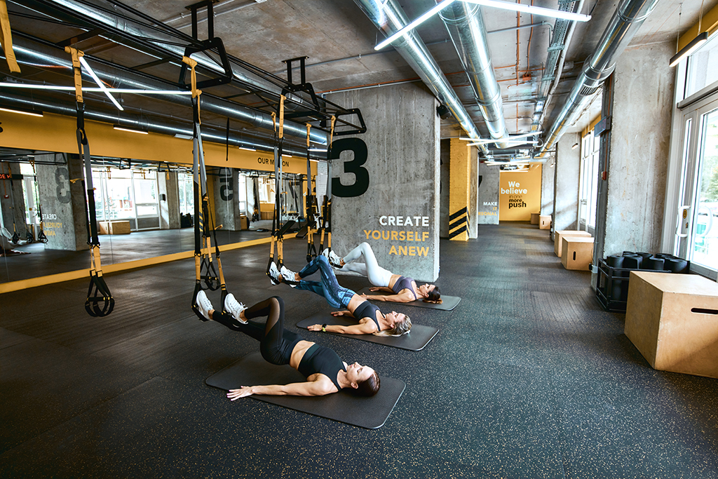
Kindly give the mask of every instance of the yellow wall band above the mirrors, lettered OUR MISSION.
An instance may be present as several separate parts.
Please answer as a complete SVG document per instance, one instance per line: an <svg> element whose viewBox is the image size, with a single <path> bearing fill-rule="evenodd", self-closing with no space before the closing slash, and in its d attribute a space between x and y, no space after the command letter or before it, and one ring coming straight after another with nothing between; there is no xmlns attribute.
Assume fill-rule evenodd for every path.
<svg viewBox="0 0 718 479"><path fill-rule="evenodd" d="M19 113L0 113L3 132L0 146L33 149L46 152L77 153L75 118L45 113L45 116L27 116ZM174 136L149 133L146 135L118 131L111 124L85 121L93 155L116 158L141 159L152 162L172 162L192 165L192 140ZM231 167L274 171L274 152L249 152L230 147L229 161L224 144L204 141L205 164L208 167ZM307 159L284 157L283 171L307 174ZM316 164L312 162L312 173Z"/></svg>

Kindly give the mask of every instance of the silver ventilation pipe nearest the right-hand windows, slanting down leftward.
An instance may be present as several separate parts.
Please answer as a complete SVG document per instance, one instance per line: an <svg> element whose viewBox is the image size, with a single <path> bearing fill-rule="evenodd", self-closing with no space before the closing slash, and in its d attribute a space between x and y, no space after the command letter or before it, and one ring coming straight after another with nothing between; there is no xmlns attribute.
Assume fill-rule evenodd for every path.
<svg viewBox="0 0 718 479"><path fill-rule="evenodd" d="M564 130L576 121L591 96L613 73L616 60L638 32L658 0L623 0L618 5L592 57L574 83L569 98L546 136L544 148L538 154L543 157L556 144Z"/></svg>

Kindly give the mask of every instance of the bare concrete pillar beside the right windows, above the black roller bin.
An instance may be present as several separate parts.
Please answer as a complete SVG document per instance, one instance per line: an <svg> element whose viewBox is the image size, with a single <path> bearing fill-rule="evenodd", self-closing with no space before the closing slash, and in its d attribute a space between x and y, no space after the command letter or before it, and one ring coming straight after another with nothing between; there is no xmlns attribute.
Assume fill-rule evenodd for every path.
<svg viewBox="0 0 718 479"><path fill-rule="evenodd" d="M670 42L625 50L613 73L606 208L596 254L658 252L671 136L674 70ZM602 209L599 209L601 212ZM597 228L601 231L602 228Z"/></svg>

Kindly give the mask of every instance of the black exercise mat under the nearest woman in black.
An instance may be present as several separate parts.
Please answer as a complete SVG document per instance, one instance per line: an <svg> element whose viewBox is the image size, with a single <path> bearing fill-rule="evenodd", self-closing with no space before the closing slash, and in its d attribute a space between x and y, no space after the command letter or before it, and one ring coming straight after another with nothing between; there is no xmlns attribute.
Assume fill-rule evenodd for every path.
<svg viewBox="0 0 718 479"><path fill-rule="evenodd" d="M355 396L343 390L317 397L259 395L249 397L352 426L378 429L384 425L406 388L406 384L398 379L381 375L379 378L381 387L376 396L372 397ZM238 389L240 386L266 386L304 381L307 380L299 371L290 366L267 363L258 352L244 356L236 363L205 379L208 386L225 391ZM246 398L237 399L237 401L243 400Z"/></svg>

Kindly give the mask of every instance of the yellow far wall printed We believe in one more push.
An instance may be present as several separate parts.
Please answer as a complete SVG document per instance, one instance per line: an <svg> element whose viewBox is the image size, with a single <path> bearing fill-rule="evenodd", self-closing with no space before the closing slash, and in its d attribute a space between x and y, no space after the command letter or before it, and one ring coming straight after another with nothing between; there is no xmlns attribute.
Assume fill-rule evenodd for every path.
<svg viewBox="0 0 718 479"><path fill-rule="evenodd" d="M527 172L501 172L498 212L502 221L528 221L541 211L541 163Z"/></svg>

